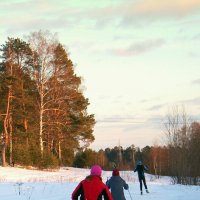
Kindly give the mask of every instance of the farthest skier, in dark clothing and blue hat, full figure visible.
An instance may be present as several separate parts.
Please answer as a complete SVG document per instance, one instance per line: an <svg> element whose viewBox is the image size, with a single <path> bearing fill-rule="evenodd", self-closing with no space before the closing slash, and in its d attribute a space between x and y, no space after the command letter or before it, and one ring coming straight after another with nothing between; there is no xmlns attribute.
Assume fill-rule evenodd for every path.
<svg viewBox="0 0 200 200"><path fill-rule="evenodd" d="M145 175L144 175L144 172L147 171L147 170L148 170L148 168L145 165L142 164L141 160L138 161L137 166L134 169L134 172L138 172L138 179L139 179L139 182L140 182L141 195L143 194L143 192L142 192L142 182L144 183L144 187L146 189L146 192L149 193L149 191L147 189Z"/></svg>

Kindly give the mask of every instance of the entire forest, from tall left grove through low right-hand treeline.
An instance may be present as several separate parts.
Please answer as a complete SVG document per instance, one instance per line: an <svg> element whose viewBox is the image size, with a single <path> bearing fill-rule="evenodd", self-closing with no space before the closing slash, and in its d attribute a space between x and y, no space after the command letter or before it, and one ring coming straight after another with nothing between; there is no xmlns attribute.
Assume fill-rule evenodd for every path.
<svg viewBox="0 0 200 200"><path fill-rule="evenodd" d="M40 169L60 166L133 170L137 160L158 178L199 185L200 124L177 109L163 124L165 145L133 144L95 151L94 114L87 108L82 79L54 34L30 33L27 41L8 38L0 52L0 162Z"/></svg>

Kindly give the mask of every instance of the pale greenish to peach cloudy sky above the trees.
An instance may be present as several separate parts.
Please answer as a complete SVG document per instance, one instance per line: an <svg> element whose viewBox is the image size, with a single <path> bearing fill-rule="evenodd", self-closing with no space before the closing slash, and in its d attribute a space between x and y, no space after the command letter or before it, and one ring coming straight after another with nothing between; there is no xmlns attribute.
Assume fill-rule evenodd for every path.
<svg viewBox="0 0 200 200"><path fill-rule="evenodd" d="M0 24L0 44L57 33L95 115L92 149L164 144L176 106L200 119L200 0L6 0Z"/></svg>

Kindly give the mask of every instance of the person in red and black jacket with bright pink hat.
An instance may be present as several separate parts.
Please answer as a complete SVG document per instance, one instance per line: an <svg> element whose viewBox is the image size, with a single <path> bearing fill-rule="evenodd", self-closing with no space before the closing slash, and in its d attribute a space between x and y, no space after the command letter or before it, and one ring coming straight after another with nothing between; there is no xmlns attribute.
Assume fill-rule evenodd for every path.
<svg viewBox="0 0 200 200"><path fill-rule="evenodd" d="M72 193L72 200L113 200L108 187L102 182L101 167L93 165L90 175L82 180Z"/></svg>

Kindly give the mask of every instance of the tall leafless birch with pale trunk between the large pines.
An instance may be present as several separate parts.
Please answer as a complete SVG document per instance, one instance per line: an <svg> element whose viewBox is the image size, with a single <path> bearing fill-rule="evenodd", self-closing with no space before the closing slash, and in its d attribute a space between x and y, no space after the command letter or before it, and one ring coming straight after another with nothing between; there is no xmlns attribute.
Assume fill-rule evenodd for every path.
<svg viewBox="0 0 200 200"><path fill-rule="evenodd" d="M33 32L29 36L29 43L33 53L33 74L32 78L35 80L39 98L37 100L39 110L39 144L41 155L44 153L44 133L45 123L44 116L46 114L46 107L49 103L48 81L53 73L52 59L55 48L58 44L56 36L46 31Z"/></svg>

